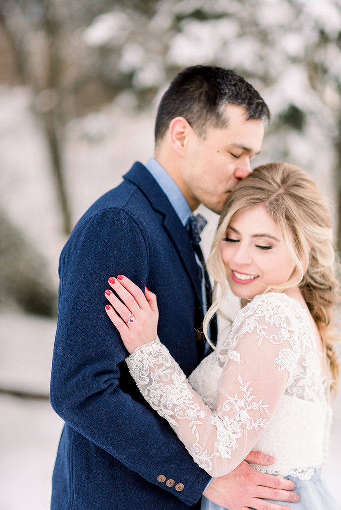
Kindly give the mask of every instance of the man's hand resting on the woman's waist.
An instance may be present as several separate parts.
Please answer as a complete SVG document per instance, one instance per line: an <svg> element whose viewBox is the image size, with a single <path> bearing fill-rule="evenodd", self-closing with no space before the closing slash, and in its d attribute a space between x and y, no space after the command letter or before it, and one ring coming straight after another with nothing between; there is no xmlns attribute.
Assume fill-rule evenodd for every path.
<svg viewBox="0 0 341 510"><path fill-rule="evenodd" d="M229 510L292 510L290 506L269 503L264 499L297 503L300 499L293 491L296 486L291 480L267 475L252 468L248 462L269 466L275 462L261 452L251 451L231 473L213 478L204 496Z"/></svg>

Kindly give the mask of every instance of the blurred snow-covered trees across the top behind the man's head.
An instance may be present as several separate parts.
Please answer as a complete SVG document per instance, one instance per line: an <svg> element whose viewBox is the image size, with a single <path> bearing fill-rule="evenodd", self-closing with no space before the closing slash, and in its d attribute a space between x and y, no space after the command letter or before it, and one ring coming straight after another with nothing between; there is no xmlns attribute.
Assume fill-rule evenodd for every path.
<svg viewBox="0 0 341 510"><path fill-rule="evenodd" d="M123 94L149 108L182 67L221 65L271 108L256 163L298 164L341 202L339 0L11 0L2 12L61 152L70 119Z"/></svg>

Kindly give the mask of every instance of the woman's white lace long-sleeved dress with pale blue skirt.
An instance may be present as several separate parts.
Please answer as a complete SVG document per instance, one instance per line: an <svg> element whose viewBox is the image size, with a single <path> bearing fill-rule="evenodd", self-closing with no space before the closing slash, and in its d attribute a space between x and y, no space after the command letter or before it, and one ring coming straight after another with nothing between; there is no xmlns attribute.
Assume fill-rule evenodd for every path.
<svg viewBox="0 0 341 510"><path fill-rule="evenodd" d="M260 450L276 463L257 469L297 483L295 509L339 508L319 477L331 424L328 384L308 315L295 299L256 296L189 382L158 339L127 364L143 397L209 474L222 476ZM221 507L203 498L203 508Z"/></svg>

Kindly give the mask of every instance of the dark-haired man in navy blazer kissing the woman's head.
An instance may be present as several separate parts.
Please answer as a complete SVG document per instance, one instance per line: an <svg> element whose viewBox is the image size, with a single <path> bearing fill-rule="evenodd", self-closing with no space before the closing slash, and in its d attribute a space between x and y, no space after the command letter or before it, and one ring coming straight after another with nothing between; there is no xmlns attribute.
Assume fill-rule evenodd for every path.
<svg viewBox="0 0 341 510"><path fill-rule="evenodd" d="M198 508L201 495L233 510L259 498L295 501L288 480L243 462L210 480L131 379L127 351L105 314L109 276L158 296L158 333L186 374L202 357L202 282L186 223L200 203L219 213L251 171L269 110L232 71L177 75L159 107L155 159L94 203L60 259L51 402L66 422L53 476L53 510ZM250 462L270 464L252 453ZM266 508L284 510L276 504Z"/></svg>

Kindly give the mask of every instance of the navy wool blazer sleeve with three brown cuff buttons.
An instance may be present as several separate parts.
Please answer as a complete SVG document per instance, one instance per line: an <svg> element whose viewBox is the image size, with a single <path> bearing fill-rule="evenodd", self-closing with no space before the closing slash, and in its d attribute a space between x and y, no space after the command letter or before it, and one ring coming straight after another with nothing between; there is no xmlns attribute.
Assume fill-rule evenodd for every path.
<svg viewBox="0 0 341 510"><path fill-rule="evenodd" d="M126 211L105 210L76 227L60 259L51 403L88 440L193 504L210 476L162 419L120 388L127 351L105 313L110 276L125 274L143 289L148 272L147 236ZM161 474L179 482L181 490L167 487Z"/></svg>

